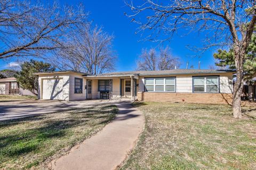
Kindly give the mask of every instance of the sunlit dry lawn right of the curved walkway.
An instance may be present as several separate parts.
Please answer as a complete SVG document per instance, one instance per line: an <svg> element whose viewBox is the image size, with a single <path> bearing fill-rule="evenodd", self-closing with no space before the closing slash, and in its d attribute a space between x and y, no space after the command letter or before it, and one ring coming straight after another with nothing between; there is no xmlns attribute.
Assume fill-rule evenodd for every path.
<svg viewBox="0 0 256 170"><path fill-rule="evenodd" d="M256 169L256 106L134 103L145 130L121 169Z"/></svg>

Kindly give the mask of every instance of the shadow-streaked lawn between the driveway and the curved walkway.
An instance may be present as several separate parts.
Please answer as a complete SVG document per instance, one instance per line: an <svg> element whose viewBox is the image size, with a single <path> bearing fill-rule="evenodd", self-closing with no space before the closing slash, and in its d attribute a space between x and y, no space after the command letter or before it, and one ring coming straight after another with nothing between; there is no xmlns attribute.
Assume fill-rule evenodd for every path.
<svg viewBox="0 0 256 170"><path fill-rule="evenodd" d="M45 169L99 132L117 111L115 105L101 105L0 122L0 169Z"/></svg>

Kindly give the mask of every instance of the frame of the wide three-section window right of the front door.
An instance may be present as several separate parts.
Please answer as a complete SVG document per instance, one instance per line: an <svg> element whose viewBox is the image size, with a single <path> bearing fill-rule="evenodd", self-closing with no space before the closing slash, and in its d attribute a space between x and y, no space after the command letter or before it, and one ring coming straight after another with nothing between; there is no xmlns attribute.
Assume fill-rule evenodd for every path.
<svg viewBox="0 0 256 170"><path fill-rule="evenodd" d="M174 84L166 84L166 79L168 78L173 78L174 79ZM154 87L154 91L147 91L146 90L146 79L154 79L154 83L150 84L149 86L153 86ZM164 84L156 84L156 79L164 79ZM164 91L156 91L156 86L164 86ZM167 86L172 86L174 85L174 91L166 91L166 85ZM147 77L144 78L144 91L145 92L176 92L176 77Z"/></svg>

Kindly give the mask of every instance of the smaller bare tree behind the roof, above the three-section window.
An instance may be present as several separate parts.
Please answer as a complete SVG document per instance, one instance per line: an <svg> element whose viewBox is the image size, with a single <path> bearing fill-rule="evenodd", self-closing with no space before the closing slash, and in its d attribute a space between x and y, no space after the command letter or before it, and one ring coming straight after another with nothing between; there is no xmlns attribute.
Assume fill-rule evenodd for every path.
<svg viewBox="0 0 256 170"><path fill-rule="evenodd" d="M170 53L170 48L160 48L159 53L155 48L143 49L137 61L137 70L171 70L180 66L179 58L175 58Z"/></svg>

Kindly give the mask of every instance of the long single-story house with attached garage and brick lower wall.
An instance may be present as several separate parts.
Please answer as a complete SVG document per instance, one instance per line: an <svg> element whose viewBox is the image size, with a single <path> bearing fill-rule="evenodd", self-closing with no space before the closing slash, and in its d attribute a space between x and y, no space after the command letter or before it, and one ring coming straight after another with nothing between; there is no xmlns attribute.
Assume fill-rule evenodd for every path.
<svg viewBox="0 0 256 170"><path fill-rule="evenodd" d="M231 103L234 71L166 70L88 75L75 71L36 73L38 98Z"/></svg>

